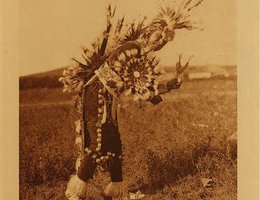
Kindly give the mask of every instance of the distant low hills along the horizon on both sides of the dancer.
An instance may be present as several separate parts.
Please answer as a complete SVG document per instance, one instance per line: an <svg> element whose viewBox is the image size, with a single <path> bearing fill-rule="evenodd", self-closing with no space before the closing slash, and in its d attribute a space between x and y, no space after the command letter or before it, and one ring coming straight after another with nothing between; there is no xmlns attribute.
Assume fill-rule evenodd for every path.
<svg viewBox="0 0 260 200"><path fill-rule="evenodd" d="M62 76L63 70L67 67L55 69L52 71L47 71L43 73L37 73L27 76L21 76L19 78L19 88L24 89L37 89L37 88L60 88L62 83L59 82L59 77ZM171 78L174 76L175 67L165 66L163 67L166 72L165 78ZM235 77L236 76L236 66L216 66L216 65L206 65L206 66L190 66L184 73L184 78L189 80L190 73L203 73L209 72L211 77ZM228 75L228 76L227 76Z"/></svg>

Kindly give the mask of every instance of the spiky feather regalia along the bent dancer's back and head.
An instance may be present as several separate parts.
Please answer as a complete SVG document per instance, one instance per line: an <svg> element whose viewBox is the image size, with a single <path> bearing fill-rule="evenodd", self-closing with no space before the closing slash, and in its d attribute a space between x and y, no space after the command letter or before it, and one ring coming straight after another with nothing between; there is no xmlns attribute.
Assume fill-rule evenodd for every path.
<svg viewBox="0 0 260 200"><path fill-rule="evenodd" d="M112 63L118 54L131 49L137 49L143 55L162 49L175 37L178 29L194 29L196 22L191 20L191 11L199 6L203 0L182 0L179 5L166 6L159 9L158 15L147 25L146 18L130 26L124 24L125 18L117 20L114 31L111 31L111 19L115 9L108 6L107 27L103 40L92 44L92 49L83 49L85 63L76 59L77 65L64 71L60 81L65 91L81 91L83 86L93 79L95 70L105 62ZM94 79L93 79L94 80Z"/></svg>

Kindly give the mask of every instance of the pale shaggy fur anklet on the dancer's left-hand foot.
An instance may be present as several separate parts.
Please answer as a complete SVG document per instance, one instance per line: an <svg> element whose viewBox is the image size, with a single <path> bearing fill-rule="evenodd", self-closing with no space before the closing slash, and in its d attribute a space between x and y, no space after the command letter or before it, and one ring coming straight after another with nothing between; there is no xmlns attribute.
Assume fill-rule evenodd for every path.
<svg viewBox="0 0 260 200"><path fill-rule="evenodd" d="M66 197L69 200L76 200L79 198L85 198L87 183L79 179L77 175L73 175L67 185L65 192Z"/></svg>

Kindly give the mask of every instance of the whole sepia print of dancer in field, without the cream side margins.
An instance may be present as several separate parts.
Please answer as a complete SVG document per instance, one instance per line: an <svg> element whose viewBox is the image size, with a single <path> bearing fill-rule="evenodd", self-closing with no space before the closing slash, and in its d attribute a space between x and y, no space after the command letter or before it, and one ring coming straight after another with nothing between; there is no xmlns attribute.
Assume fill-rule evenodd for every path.
<svg viewBox="0 0 260 200"><path fill-rule="evenodd" d="M17 10L20 200L239 199L236 0Z"/></svg>

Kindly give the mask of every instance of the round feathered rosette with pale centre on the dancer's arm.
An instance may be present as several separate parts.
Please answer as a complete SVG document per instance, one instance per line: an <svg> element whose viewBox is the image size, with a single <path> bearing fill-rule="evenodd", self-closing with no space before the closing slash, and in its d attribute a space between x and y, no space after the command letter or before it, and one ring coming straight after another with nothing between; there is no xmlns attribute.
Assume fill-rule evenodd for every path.
<svg viewBox="0 0 260 200"><path fill-rule="evenodd" d="M159 60L150 54L138 56L136 49L126 50L111 63L112 70L121 77L121 81L110 82L109 86L119 94L132 94L134 101L146 101L158 94L158 63Z"/></svg>

